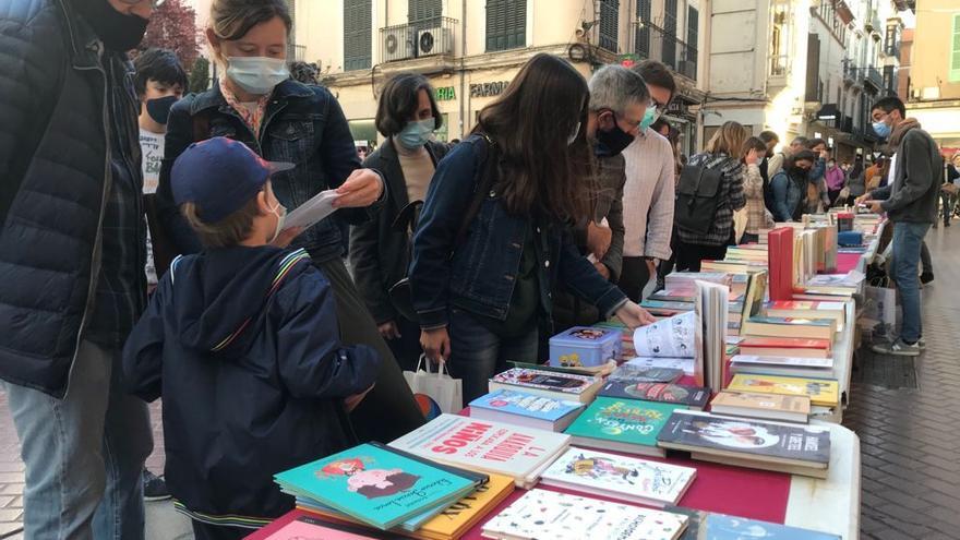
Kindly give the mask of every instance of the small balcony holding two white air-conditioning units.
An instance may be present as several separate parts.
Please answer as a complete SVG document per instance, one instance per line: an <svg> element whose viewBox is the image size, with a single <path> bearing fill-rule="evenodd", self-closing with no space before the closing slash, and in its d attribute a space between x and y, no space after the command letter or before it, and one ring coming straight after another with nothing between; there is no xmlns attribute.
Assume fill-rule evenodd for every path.
<svg viewBox="0 0 960 540"><path fill-rule="evenodd" d="M439 16L380 28L382 62L453 56L457 21Z"/></svg>

